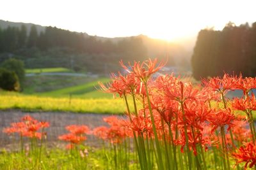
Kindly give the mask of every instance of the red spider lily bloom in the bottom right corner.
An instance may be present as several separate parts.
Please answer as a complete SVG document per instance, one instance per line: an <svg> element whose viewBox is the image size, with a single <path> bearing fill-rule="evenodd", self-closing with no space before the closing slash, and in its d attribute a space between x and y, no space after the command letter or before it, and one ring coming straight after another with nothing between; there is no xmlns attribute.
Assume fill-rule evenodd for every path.
<svg viewBox="0 0 256 170"><path fill-rule="evenodd" d="M237 152L232 153L232 156L236 160L236 164L245 163L244 169L247 169L248 166L252 168L256 165L256 146L252 142L246 143Z"/></svg>

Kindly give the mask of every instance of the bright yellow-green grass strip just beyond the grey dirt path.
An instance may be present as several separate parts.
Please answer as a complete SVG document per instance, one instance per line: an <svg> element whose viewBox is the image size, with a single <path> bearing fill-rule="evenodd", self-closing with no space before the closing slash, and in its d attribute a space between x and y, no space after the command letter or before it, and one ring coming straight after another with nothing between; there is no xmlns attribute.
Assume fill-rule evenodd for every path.
<svg viewBox="0 0 256 170"><path fill-rule="evenodd" d="M1 92L0 109L22 111L65 111L74 113L121 114L125 111L122 99L79 99L70 97L40 97L15 92Z"/></svg>

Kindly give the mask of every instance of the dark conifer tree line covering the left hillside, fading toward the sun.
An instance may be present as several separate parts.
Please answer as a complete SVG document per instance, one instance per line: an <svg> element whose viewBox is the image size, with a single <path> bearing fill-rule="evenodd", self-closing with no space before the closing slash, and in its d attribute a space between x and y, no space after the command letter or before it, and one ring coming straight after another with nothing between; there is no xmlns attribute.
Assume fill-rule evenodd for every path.
<svg viewBox="0 0 256 170"><path fill-rule="evenodd" d="M74 67L102 72L118 67L118 61L145 59L147 48L140 37L111 39L88 36L56 27L38 32L21 27L0 28L0 62L12 53L25 67ZM2 54L2 55L1 55ZM94 69L94 70L93 70ZM113 71L113 70L108 70Z"/></svg>

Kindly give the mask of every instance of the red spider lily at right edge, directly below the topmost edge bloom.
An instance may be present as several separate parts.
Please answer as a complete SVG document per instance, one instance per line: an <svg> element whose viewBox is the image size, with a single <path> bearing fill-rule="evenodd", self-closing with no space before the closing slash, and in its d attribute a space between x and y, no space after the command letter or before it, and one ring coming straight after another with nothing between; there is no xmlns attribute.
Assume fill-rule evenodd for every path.
<svg viewBox="0 0 256 170"><path fill-rule="evenodd" d="M252 94L252 96L246 97L246 99L235 98L232 102L232 107L235 110L241 110L245 112L256 110L256 99L254 94Z"/></svg>

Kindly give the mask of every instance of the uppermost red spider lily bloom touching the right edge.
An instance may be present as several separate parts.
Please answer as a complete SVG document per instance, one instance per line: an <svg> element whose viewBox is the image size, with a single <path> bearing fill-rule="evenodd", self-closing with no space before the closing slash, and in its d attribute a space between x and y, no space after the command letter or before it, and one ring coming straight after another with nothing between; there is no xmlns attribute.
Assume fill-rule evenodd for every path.
<svg viewBox="0 0 256 170"><path fill-rule="evenodd" d="M237 89L243 90L244 95L248 94L248 92L252 89L256 89L256 78L246 77L240 74L237 82L236 82Z"/></svg>

